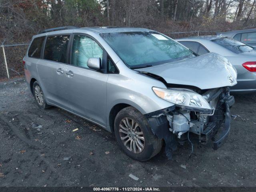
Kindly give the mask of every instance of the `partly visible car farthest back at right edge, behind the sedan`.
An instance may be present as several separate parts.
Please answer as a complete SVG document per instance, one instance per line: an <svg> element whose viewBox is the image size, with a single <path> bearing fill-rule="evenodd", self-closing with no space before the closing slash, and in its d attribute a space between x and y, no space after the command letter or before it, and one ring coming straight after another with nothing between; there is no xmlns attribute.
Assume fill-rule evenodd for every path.
<svg viewBox="0 0 256 192"><path fill-rule="evenodd" d="M216 34L234 38L238 41L244 42L254 47L256 46L256 28L234 30L234 31L227 31L227 32L218 32Z"/></svg>

